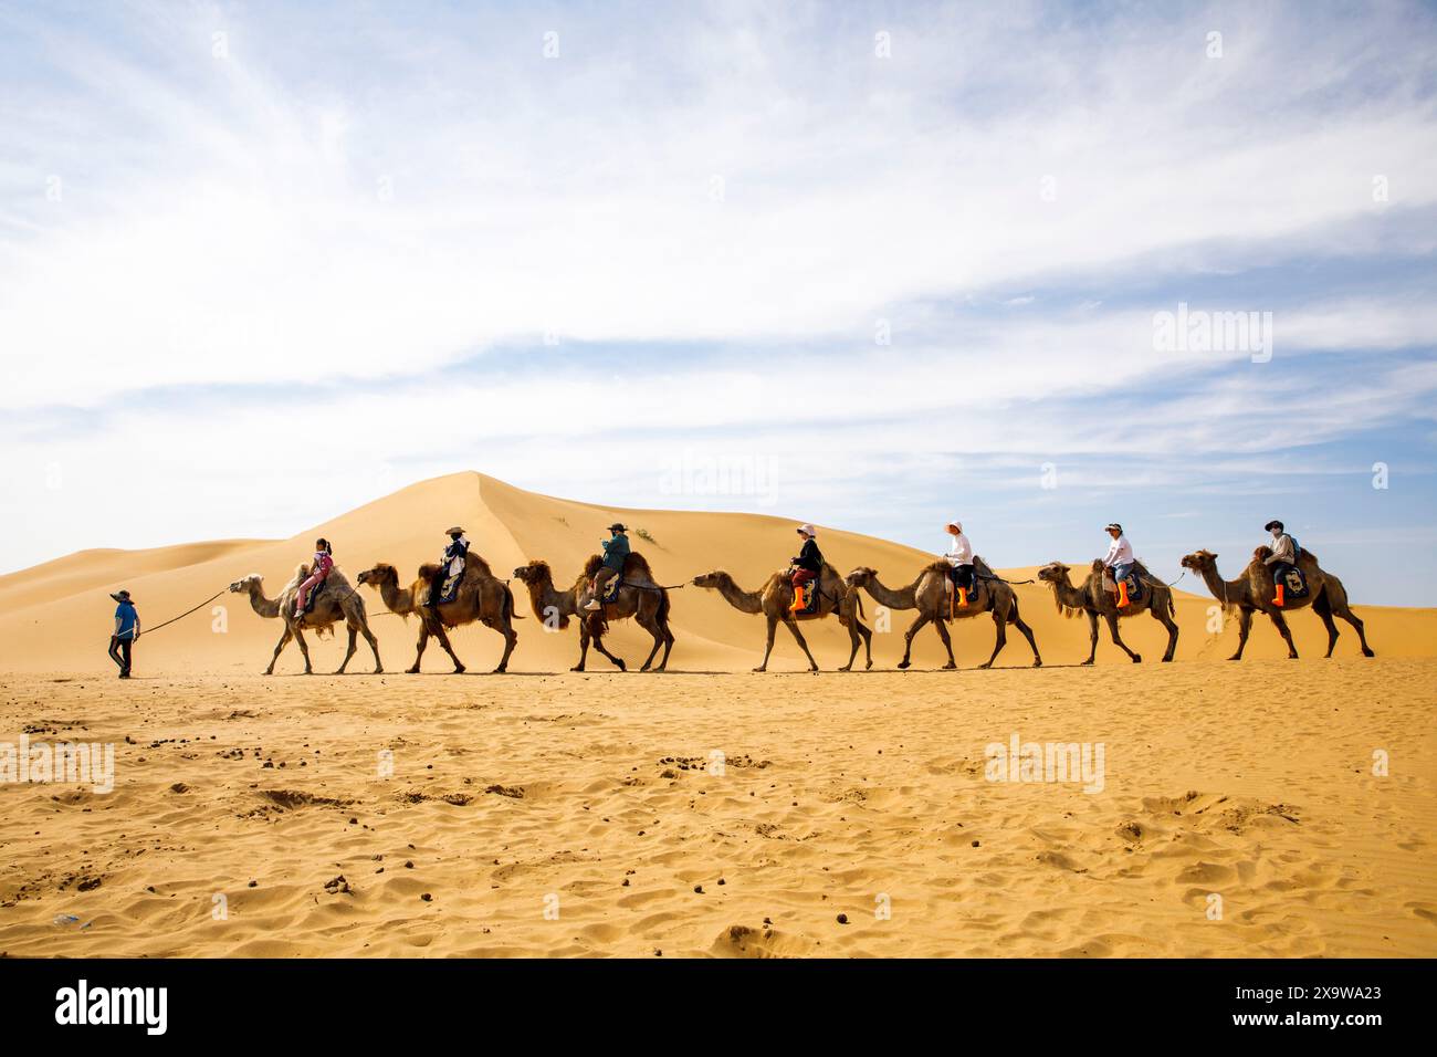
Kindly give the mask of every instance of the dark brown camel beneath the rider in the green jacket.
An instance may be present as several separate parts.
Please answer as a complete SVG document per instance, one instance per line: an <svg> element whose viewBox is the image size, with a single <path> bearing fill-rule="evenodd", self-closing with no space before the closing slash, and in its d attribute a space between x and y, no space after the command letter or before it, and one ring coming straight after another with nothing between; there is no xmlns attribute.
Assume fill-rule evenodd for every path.
<svg viewBox="0 0 1437 1057"><path fill-rule="evenodd" d="M664 656L658 662L655 672L668 667L668 653L674 649L674 633L668 628L668 591L654 582L654 574L648 568L648 561L638 551L629 552L624 561L624 585L618 598L595 613L583 611L583 604L589 600L589 584L604 559L592 555L583 567L583 574L568 591L558 591L553 585L553 572L545 561L532 561L514 569L514 577L529 588L529 604L535 616L545 621L545 627L569 627L569 617L579 617L579 663L570 672L583 672L583 664L589 656L589 641L593 649L608 657L619 672L627 672L628 666L622 657L615 657L604 649L604 633L609 630L611 620L634 621L654 636L654 649L648 651L644 667L648 672L654 663L658 647L664 647Z"/></svg>

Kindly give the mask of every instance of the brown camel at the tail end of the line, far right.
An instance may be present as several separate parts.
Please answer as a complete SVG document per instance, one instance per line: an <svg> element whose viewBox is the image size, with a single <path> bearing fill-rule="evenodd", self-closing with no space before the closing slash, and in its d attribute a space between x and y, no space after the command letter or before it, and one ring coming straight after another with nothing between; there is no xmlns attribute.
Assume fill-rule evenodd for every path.
<svg viewBox="0 0 1437 1057"><path fill-rule="evenodd" d="M1288 621L1283 614L1306 605L1311 605L1322 617L1322 624L1328 628L1328 651L1325 656L1332 656L1332 647L1338 641L1338 627L1332 623L1334 614L1342 617L1342 620L1357 628L1364 657L1377 656L1367 644L1367 631L1362 627L1361 618L1348 607L1346 588L1342 587L1342 581L1331 572L1323 572L1318 565L1316 555L1305 548L1298 555L1298 568L1302 569L1302 575L1308 581L1308 594L1302 598L1289 595L1285 605L1273 605L1272 597L1276 588L1272 580L1272 567L1265 562L1270 555L1272 548L1259 546L1253 551L1253 559L1237 580L1223 580L1217 574L1217 555L1211 551L1197 551L1183 558L1183 568L1197 572L1203 578L1203 582L1207 584L1207 590L1213 592L1213 597L1223 603L1224 610L1237 610L1237 653L1229 657L1229 660L1243 659L1243 649L1247 646L1247 633L1252 631L1255 611L1262 611L1272 617L1272 623L1277 626L1283 641L1288 643L1288 657L1296 660L1298 647L1292 644L1292 631L1288 630Z"/></svg>

